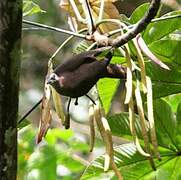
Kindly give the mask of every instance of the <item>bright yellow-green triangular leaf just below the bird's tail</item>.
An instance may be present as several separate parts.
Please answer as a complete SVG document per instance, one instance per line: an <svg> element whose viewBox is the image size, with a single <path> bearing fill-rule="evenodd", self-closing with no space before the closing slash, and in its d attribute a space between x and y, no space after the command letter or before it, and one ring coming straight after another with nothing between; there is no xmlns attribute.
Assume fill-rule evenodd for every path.
<svg viewBox="0 0 181 180"><path fill-rule="evenodd" d="M109 112L112 99L119 85L119 79L103 78L97 83L98 92L106 113Z"/></svg>

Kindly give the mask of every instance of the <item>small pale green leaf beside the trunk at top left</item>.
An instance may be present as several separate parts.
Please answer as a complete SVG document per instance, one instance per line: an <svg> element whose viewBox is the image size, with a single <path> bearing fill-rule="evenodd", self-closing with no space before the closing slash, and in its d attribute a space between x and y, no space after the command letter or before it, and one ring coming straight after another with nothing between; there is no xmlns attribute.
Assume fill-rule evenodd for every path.
<svg viewBox="0 0 181 180"><path fill-rule="evenodd" d="M23 16L31 16L37 13L44 13L45 11L42 10L36 3L32 0L24 0L23 1Z"/></svg>

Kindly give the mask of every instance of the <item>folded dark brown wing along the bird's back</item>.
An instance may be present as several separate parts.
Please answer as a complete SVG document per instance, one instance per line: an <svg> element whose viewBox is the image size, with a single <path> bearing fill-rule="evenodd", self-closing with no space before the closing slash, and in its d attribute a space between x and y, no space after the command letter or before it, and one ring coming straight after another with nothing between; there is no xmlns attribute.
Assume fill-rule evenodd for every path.
<svg viewBox="0 0 181 180"><path fill-rule="evenodd" d="M88 51L83 52L80 54L77 54L75 56L72 56L71 58L67 59L64 63L60 64L56 69L55 73L57 75L67 72L67 71L73 71L80 67L84 63L92 63L96 61L96 58L94 57L98 52L96 51Z"/></svg>

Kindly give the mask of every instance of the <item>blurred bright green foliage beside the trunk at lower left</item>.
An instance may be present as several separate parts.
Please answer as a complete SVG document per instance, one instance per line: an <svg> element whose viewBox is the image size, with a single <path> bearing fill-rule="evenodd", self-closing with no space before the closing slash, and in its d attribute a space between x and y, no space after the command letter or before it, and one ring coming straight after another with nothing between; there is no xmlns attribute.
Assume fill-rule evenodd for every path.
<svg viewBox="0 0 181 180"><path fill-rule="evenodd" d="M84 170L81 156L88 145L71 130L52 129L46 143L37 146L36 132L31 126L19 131L18 177L21 179L77 179ZM81 159L81 158L80 158Z"/></svg>

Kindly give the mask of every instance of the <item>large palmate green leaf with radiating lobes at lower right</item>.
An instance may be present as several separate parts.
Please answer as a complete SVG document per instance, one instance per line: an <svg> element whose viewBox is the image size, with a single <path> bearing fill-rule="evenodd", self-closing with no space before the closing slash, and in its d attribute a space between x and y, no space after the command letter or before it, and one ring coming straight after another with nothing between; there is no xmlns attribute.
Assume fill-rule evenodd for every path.
<svg viewBox="0 0 181 180"><path fill-rule="evenodd" d="M157 170L153 171L148 165L147 158L141 156L133 143L123 144L115 147L115 161L125 179L180 179L180 104L177 115L174 116L171 107L162 99L155 100L155 121L159 151L162 160L155 160ZM164 113L163 113L164 112ZM116 136L128 137L128 115L117 114L109 118L111 131ZM175 131L173 131L175 129ZM137 130L140 131L139 126ZM94 179L109 177L116 179L114 173L103 173L103 156L96 159L86 169L81 179ZM94 173L93 173L94 172ZM95 178L95 179L96 179Z"/></svg>

